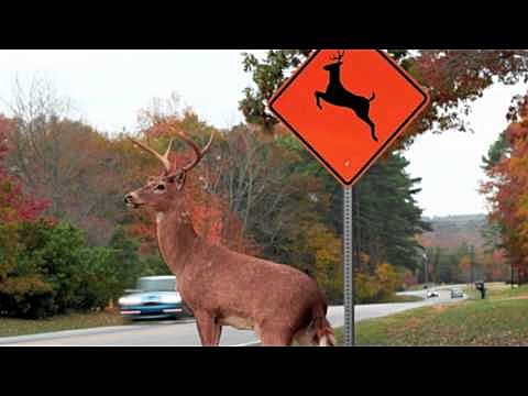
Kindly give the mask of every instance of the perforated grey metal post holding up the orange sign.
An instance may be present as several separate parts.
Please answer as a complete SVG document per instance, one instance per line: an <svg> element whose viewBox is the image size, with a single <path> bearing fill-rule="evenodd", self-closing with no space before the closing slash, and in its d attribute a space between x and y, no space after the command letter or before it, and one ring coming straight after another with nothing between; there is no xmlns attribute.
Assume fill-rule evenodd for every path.
<svg viewBox="0 0 528 396"><path fill-rule="evenodd" d="M343 187L344 345L354 345L354 268L352 250L352 187Z"/></svg>

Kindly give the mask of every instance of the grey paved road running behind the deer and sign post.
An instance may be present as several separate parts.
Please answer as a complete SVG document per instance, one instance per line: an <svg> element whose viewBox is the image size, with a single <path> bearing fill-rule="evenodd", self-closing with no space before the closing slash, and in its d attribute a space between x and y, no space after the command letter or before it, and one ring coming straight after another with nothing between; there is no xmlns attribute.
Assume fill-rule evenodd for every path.
<svg viewBox="0 0 528 396"><path fill-rule="evenodd" d="M447 286L446 288L452 286ZM425 292L406 292L402 294L424 297ZM451 301L449 290L443 289L440 290L439 294L440 296L438 298L431 298L417 302L372 304L356 306L355 321L383 317L422 306ZM343 307L329 307L327 317L333 327L343 326ZM255 343L257 343L257 337L253 331L241 331L232 328L224 328L220 344L226 346L245 346ZM0 346L7 345L198 346L199 338L195 321L185 320L145 322L130 326L113 326L106 328L0 338Z"/></svg>

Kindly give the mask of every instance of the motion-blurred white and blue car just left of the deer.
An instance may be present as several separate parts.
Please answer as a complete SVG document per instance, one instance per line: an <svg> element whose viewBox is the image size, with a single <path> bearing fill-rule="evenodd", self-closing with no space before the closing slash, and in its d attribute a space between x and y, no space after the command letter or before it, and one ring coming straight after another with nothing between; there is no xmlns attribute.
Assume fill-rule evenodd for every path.
<svg viewBox="0 0 528 396"><path fill-rule="evenodd" d="M121 315L138 319L180 319L193 314L176 292L175 276L145 276L119 299Z"/></svg>

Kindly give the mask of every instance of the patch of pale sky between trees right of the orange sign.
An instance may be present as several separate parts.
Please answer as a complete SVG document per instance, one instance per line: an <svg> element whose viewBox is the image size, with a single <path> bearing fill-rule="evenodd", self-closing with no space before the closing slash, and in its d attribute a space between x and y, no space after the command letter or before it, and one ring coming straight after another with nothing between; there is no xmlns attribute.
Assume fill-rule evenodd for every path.
<svg viewBox="0 0 528 396"><path fill-rule="evenodd" d="M427 132L404 155L414 177L421 177L421 193L417 196L424 215L428 217L486 213L486 202L479 194L485 179L481 169L482 156L506 129L506 112L512 97L526 94L527 86L496 85L472 105L468 117L471 132Z"/></svg>

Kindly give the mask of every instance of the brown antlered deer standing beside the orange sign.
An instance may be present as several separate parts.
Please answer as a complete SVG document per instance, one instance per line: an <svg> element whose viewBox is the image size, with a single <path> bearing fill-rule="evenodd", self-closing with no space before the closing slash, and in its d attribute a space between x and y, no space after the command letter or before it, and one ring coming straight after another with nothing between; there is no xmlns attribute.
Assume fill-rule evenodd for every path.
<svg viewBox="0 0 528 396"><path fill-rule="evenodd" d="M327 320L327 300L316 280L285 264L273 263L229 250L198 235L186 210L183 191L187 176L209 151L215 132L204 148L183 131L177 138L188 144L195 158L179 168L168 155L174 139L162 155L147 144L129 139L163 165L163 173L125 195L131 209L155 212L161 255L176 276L176 289L196 319L202 346L218 346L222 327L253 330L263 345L333 346L334 332Z"/></svg>

